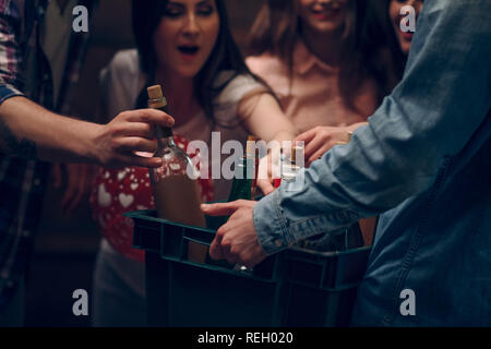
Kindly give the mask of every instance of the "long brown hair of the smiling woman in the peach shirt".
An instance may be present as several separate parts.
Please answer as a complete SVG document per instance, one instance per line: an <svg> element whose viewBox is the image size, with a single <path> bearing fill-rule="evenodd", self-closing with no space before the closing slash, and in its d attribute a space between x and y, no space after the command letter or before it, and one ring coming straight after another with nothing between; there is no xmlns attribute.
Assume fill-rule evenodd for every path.
<svg viewBox="0 0 491 349"><path fill-rule="evenodd" d="M366 1L348 0L348 15L342 37L339 91L346 105L354 110L354 97L361 83L366 79L379 82L376 74L364 64L367 55L374 55L368 41L370 38L363 33L364 28L370 26L370 20L372 19L367 15ZM295 45L301 39L301 35L302 25L296 0L268 0L252 26L248 55L260 56L268 52L280 58L288 69L291 87ZM382 86L380 87L382 91ZM380 92L380 101L382 97L383 93Z"/></svg>

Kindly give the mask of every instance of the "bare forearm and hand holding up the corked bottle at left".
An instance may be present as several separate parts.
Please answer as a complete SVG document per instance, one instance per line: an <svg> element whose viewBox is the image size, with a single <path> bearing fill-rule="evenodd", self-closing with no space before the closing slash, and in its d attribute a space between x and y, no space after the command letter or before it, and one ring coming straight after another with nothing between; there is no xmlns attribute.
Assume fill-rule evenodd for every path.
<svg viewBox="0 0 491 349"><path fill-rule="evenodd" d="M100 125L58 116L25 97L12 97L0 106L0 152L48 161L156 167L159 159L134 154L156 151L152 124L172 127L173 119L142 109L121 112Z"/></svg>

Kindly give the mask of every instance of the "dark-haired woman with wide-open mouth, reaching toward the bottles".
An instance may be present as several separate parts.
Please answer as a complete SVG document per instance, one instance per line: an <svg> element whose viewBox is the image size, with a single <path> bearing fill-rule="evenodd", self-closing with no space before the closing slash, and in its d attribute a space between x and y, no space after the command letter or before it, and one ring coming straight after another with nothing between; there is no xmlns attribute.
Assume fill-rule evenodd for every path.
<svg viewBox="0 0 491 349"><path fill-rule="evenodd" d="M137 50L118 52L101 73L106 110L145 107L145 87L160 84L184 148L188 141L209 146L212 132L221 143L242 145L249 134L266 142L297 135L244 64L223 0L134 0L133 31ZM226 198L231 181L199 183L209 201ZM94 325L145 325L144 255L132 249L133 226L121 214L154 207L147 171L101 169L91 200L105 237L94 276Z"/></svg>

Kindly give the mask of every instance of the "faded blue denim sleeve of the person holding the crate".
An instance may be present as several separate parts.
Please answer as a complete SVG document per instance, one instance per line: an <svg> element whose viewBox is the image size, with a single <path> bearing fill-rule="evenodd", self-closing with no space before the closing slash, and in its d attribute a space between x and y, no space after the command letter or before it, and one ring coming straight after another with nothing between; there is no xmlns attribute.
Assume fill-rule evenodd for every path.
<svg viewBox="0 0 491 349"><path fill-rule="evenodd" d="M491 107L491 1L424 3L400 84L359 128L254 207L267 253L375 216L422 193L457 155Z"/></svg>

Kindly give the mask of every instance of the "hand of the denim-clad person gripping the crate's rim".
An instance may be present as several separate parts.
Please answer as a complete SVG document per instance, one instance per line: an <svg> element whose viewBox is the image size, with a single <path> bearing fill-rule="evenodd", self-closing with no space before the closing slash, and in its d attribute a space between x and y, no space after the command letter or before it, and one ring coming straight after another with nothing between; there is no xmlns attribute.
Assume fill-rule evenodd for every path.
<svg viewBox="0 0 491 349"><path fill-rule="evenodd" d="M262 262L267 255L258 241L258 233L252 221L252 209L256 202L239 200L227 204L202 205L202 210L209 216L230 216L228 221L216 232L209 248L213 260L227 260L248 268Z"/></svg>

